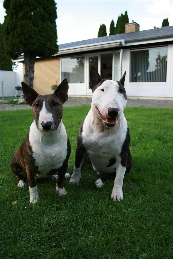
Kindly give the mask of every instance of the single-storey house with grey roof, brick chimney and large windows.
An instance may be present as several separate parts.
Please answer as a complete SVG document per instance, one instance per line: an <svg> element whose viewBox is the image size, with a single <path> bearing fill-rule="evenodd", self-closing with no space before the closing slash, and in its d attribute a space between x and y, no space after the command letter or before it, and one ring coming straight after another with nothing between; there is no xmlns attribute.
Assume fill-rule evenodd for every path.
<svg viewBox="0 0 173 259"><path fill-rule="evenodd" d="M50 59L36 59L34 89L47 94L52 92L52 85L67 78L69 95L91 95L91 66L102 78L116 81L127 71L128 97L170 99L173 97L173 26L139 31L139 24L132 21L125 25L122 34L61 44L59 52Z"/></svg>

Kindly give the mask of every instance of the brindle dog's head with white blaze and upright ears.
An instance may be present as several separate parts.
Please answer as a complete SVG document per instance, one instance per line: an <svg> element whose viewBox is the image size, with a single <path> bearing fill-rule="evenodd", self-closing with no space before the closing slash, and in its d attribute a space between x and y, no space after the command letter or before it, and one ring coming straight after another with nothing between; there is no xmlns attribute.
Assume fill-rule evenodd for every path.
<svg viewBox="0 0 173 259"><path fill-rule="evenodd" d="M34 121L39 131L56 130L63 116L63 103L68 99L68 82L65 78L50 95L39 95L33 88L22 82L26 103L31 105Z"/></svg>

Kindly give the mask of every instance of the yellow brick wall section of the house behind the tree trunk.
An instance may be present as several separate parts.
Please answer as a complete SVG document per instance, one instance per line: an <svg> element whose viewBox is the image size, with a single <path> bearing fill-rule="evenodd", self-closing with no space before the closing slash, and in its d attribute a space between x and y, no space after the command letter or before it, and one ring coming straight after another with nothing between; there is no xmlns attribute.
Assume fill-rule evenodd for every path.
<svg viewBox="0 0 173 259"><path fill-rule="evenodd" d="M23 63L23 80L25 65ZM52 85L60 84L60 59L36 60L34 65L33 89L41 95L53 93Z"/></svg>

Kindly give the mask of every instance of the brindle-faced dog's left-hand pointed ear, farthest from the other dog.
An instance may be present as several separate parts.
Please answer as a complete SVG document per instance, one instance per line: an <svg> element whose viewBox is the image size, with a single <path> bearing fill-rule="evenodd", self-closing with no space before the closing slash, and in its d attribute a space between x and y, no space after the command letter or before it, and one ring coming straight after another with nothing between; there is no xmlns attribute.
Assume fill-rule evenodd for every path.
<svg viewBox="0 0 173 259"><path fill-rule="evenodd" d="M31 106L39 94L24 82L22 82L22 91L25 96L26 103Z"/></svg>

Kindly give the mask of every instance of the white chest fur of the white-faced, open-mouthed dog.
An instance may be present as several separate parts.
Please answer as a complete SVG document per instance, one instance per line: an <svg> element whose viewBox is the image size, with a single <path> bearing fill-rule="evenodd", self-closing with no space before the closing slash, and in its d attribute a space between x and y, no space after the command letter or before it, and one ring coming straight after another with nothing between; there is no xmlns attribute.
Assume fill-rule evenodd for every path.
<svg viewBox="0 0 173 259"><path fill-rule="evenodd" d="M119 118L115 127L101 131L98 123L95 123L92 118L92 112L88 113L83 124L82 142L95 171L102 173L114 171L116 164L108 165L111 159L121 153L126 134L127 121L124 114Z"/></svg>

